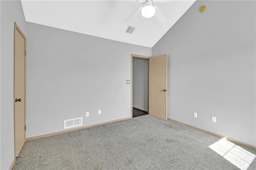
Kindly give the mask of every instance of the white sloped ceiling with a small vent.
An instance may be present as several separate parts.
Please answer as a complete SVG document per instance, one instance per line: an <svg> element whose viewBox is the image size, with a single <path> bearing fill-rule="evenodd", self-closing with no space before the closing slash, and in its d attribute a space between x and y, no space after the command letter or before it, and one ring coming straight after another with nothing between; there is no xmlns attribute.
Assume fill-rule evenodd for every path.
<svg viewBox="0 0 256 170"><path fill-rule="evenodd" d="M51 26L110 40L153 47L196 0L156 2L167 18L160 24L141 14L125 23L137 8L136 0L21 0L27 22ZM152 22L150 22L152 21ZM133 34L125 33L128 26Z"/></svg>

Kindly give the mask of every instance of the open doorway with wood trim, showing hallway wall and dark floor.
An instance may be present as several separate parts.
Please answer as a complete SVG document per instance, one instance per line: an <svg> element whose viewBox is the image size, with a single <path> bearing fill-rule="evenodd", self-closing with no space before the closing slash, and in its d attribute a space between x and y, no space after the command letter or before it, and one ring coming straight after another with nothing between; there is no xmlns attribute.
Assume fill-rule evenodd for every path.
<svg viewBox="0 0 256 170"><path fill-rule="evenodd" d="M149 58L131 55L131 118L148 114Z"/></svg>

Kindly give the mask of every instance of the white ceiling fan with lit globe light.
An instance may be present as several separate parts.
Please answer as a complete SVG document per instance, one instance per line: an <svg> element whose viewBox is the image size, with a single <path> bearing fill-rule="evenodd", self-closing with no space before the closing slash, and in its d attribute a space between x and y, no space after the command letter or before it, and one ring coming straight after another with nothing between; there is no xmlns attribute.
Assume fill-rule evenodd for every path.
<svg viewBox="0 0 256 170"><path fill-rule="evenodd" d="M162 0L137 0L136 2L140 2L143 6L135 10L124 22L131 22L139 13L144 18L155 16L161 24L166 22L167 19L161 10L157 6L153 6L156 2L162 2Z"/></svg>

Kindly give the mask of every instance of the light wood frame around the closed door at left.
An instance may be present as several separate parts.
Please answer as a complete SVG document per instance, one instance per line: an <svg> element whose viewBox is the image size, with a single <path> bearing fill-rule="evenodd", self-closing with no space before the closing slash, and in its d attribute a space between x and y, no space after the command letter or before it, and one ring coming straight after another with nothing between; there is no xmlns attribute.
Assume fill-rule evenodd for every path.
<svg viewBox="0 0 256 170"><path fill-rule="evenodd" d="M24 62L24 69L25 69L25 71L24 71L24 81L25 81L25 94L24 94L24 125L26 126L26 36L23 34L23 32L22 32L22 30L20 29L20 27L18 26L18 24L16 23L16 22L14 22L14 47L13 47L13 51L14 51L14 54L13 54L13 56L14 56L14 58L13 58L13 66L14 66L14 68L13 68L13 71L14 71L14 73L13 73L13 96L15 95L15 81L14 81L14 76L15 76L15 62L14 62L14 60L15 60L15 31L18 31L19 33L20 33L20 35L25 39L25 56L24 56L24 59L25 59L25 62ZM14 119L13 119L13 121L14 121L14 159L15 159L15 157L16 157L16 153L15 153L15 96L13 97L13 110L14 110ZM25 128L25 127L24 127ZM25 142L26 142L26 130L25 130L25 133L24 133L24 138L25 138Z"/></svg>

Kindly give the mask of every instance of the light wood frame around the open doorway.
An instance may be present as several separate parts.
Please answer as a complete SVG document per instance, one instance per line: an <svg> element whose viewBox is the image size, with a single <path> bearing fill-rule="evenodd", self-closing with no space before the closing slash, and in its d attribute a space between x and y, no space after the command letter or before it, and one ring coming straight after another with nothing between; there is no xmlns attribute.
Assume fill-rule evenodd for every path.
<svg viewBox="0 0 256 170"><path fill-rule="evenodd" d="M146 55L137 55L137 54L131 54L131 118L132 118L132 65L133 65L133 57L136 58L144 58L144 59L149 59L151 56L146 56ZM149 61L148 61L148 77L149 77ZM149 81L148 81L148 86L149 86ZM148 95L149 95L149 89L148 89ZM149 96L148 96L149 100ZM148 105L149 108L149 105ZM148 110L149 112L149 110Z"/></svg>

